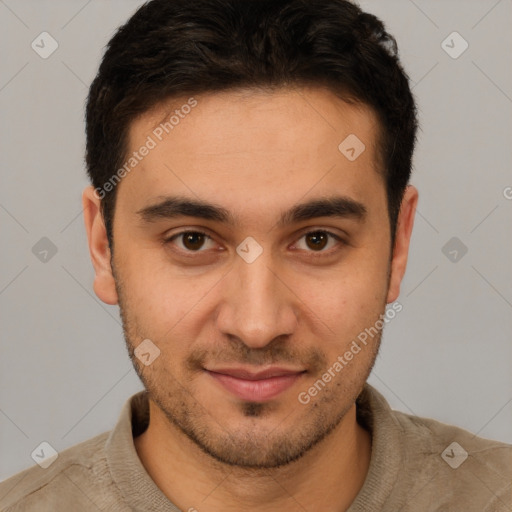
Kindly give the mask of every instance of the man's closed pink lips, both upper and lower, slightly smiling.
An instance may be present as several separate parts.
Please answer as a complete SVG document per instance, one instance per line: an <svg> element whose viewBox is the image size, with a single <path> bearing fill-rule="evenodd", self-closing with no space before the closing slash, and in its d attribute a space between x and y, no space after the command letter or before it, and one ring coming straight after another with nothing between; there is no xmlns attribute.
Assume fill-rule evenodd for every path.
<svg viewBox="0 0 512 512"><path fill-rule="evenodd" d="M206 371L229 393L251 402L265 402L277 397L305 373L304 370L279 367L258 372L246 368L216 368Z"/></svg>

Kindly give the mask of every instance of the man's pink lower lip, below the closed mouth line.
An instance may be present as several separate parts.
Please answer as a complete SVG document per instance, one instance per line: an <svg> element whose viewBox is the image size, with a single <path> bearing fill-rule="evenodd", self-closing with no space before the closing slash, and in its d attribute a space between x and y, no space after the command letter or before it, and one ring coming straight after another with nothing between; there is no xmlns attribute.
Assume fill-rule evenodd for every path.
<svg viewBox="0 0 512 512"><path fill-rule="evenodd" d="M261 380L237 379L223 373L208 372L233 395L250 402L264 402L275 398L292 386L302 373L292 373Z"/></svg>

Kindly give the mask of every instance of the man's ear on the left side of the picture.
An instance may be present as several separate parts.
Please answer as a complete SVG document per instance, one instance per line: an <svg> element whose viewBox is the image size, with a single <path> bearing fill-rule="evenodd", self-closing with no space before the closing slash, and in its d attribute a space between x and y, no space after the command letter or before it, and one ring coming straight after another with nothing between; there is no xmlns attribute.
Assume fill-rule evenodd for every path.
<svg viewBox="0 0 512 512"><path fill-rule="evenodd" d="M89 254L96 276L94 293L106 304L117 304L117 291L110 265L110 246L107 230L101 214L101 199L93 187L87 187L82 194L85 230L89 242Z"/></svg>

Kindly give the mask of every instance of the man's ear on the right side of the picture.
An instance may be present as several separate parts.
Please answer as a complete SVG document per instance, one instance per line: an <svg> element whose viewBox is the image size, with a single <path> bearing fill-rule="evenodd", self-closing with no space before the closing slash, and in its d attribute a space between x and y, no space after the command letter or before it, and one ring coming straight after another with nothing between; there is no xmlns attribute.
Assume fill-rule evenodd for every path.
<svg viewBox="0 0 512 512"><path fill-rule="evenodd" d="M404 193L400 213L398 214L393 259L391 260L391 276L389 279L388 297L386 302L394 302L400 294L400 283L405 274L409 242L411 241L414 215L418 204L418 191L409 185Z"/></svg>

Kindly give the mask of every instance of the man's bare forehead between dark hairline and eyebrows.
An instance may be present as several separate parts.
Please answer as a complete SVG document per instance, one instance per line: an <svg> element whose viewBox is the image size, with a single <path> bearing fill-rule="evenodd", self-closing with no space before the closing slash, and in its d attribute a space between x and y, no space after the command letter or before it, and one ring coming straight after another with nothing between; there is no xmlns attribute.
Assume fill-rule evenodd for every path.
<svg viewBox="0 0 512 512"><path fill-rule="evenodd" d="M181 193L223 197L228 207L243 196L267 207L272 197L293 202L333 187L360 199L383 189L377 131L369 107L319 88L174 98L131 124L127 156L144 145L151 150L121 188L138 204L143 197ZM364 150L347 158L352 148L356 156Z"/></svg>

